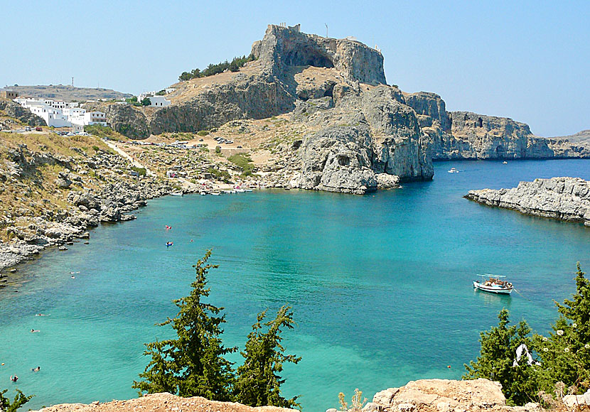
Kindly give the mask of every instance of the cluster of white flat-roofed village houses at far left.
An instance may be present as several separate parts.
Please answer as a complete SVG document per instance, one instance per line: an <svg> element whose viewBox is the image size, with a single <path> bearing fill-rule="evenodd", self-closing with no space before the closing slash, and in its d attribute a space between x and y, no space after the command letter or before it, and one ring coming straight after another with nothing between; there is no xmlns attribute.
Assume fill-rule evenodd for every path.
<svg viewBox="0 0 590 412"><path fill-rule="evenodd" d="M53 101L48 99L14 99L22 107L43 118L48 126L72 127L73 131L84 131L84 126L100 124L107 126L107 114L103 112L86 112L77 107L77 103Z"/></svg>

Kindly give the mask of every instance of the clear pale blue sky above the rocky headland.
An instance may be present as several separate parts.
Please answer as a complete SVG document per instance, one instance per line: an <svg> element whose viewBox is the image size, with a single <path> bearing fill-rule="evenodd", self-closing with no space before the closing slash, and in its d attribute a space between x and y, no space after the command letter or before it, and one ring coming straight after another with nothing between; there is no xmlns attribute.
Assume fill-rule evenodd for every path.
<svg viewBox="0 0 590 412"><path fill-rule="evenodd" d="M247 55L269 23L355 36L388 84L447 110L508 116L538 136L590 129L590 1L0 0L0 86L139 94Z"/></svg>

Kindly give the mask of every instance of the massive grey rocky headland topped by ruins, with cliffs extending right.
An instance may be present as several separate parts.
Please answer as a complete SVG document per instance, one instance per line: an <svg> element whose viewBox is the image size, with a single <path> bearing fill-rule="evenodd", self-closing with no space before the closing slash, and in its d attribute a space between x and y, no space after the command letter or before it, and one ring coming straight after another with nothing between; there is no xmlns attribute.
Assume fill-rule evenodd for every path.
<svg viewBox="0 0 590 412"><path fill-rule="evenodd" d="M106 112L133 139L287 115L284 144L250 131L244 141L252 153L281 151L282 185L344 193L429 180L433 159L590 157L590 146L539 138L512 119L447 112L437 94L401 92L386 84L380 51L356 40L270 25L252 55L239 72L173 85L168 107L87 108Z"/></svg>

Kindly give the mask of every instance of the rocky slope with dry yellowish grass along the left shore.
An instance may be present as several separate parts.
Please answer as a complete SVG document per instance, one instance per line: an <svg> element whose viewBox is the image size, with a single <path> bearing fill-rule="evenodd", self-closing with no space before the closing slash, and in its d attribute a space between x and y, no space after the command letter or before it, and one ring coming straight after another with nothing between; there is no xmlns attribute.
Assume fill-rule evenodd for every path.
<svg viewBox="0 0 590 412"><path fill-rule="evenodd" d="M0 271L32 260L43 249L67 249L75 239L88 239L89 229L101 222L134 219L130 212L146 205L146 200L167 195L175 189L159 178L132 176L129 161L107 151L84 160L55 153L38 153L19 145L9 151L10 161L0 170L3 193L13 193L16 207L4 210L0 225L8 240L0 240ZM55 180L47 182L40 170L63 168ZM92 183L88 184L87 183ZM31 199L33 190L53 187L51 200ZM6 207L7 205L5 205ZM0 275L0 288L6 286Z"/></svg>

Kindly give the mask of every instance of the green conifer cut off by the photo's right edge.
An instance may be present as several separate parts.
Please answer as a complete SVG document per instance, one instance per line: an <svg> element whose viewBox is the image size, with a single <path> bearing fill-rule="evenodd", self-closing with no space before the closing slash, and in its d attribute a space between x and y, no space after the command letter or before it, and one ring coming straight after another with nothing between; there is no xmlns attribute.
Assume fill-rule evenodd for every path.
<svg viewBox="0 0 590 412"><path fill-rule="evenodd" d="M566 386L589 386L590 382L590 281L577 264L576 293L563 305L555 302L559 318L548 337L535 335L540 355L540 386L551 392L561 381Z"/></svg>

